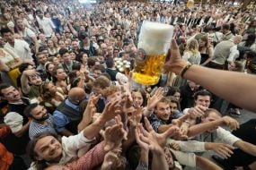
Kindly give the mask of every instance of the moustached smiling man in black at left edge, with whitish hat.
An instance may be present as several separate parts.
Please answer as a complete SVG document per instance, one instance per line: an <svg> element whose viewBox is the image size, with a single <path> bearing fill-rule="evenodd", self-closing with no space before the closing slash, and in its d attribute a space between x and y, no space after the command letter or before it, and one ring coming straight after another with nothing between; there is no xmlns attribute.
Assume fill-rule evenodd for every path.
<svg viewBox="0 0 256 170"><path fill-rule="evenodd" d="M2 143L13 154L22 155L26 152L29 142L28 130L31 121L23 114L24 108L30 105L28 98L22 98L19 91L8 84L0 84L0 97L8 101L9 110L4 116L4 123L11 128Z"/></svg>

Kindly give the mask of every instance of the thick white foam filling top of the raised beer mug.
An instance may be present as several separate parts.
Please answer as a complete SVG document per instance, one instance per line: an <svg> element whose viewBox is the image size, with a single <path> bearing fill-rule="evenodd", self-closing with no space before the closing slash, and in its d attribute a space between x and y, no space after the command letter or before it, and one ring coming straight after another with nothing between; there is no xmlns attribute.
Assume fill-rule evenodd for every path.
<svg viewBox="0 0 256 170"><path fill-rule="evenodd" d="M144 21L140 30L138 48L143 48L146 55L162 55L170 47L173 27L171 25Z"/></svg>

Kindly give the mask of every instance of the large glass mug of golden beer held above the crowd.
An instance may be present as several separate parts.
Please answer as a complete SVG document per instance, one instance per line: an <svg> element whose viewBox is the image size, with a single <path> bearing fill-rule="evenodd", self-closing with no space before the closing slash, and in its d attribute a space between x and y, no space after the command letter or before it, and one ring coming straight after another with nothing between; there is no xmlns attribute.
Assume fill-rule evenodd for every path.
<svg viewBox="0 0 256 170"><path fill-rule="evenodd" d="M159 81L172 34L171 25L152 21L143 22L133 72L135 81L144 85L154 85Z"/></svg>

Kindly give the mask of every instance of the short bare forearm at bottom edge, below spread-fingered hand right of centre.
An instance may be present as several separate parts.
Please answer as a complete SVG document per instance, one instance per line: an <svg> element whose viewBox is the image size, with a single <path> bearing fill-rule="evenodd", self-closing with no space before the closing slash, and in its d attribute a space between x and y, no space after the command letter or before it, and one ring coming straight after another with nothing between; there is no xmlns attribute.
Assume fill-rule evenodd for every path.
<svg viewBox="0 0 256 170"><path fill-rule="evenodd" d="M153 152L152 169L168 170L169 166L165 159L164 152L156 153Z"/></svg>

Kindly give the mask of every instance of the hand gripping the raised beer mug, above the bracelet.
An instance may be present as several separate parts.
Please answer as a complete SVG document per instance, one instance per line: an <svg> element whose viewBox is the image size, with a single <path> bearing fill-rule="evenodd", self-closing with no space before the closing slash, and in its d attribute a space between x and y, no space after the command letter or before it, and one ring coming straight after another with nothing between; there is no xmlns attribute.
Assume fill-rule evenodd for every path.
<svg viewBox="0 0 256 170"><path fill-rule="evenodd" d="M170 60L163 65L166 71L179 74L181 69L187 64L187 62L182 60L179 46L174 38L172 38L172 44L166 57L170 57Z"/></svg>

